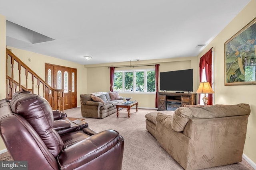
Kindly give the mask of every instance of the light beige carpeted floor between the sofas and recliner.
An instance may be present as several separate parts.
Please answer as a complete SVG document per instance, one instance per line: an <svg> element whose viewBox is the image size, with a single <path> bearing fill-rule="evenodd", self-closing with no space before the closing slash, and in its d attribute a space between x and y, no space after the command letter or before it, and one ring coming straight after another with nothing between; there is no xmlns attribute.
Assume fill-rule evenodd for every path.
<svg viewBox="0 0 256 170"><path fill-rule="evenodd" d="M89 127L100 132L114 129L124 137L124 157L122 170L183 170L171 156L158 145L156 139L146 130L144 115L153 109L131 109L128 118L126 109L105 117L104 119L85 118L81 116L80 107L65 110L68 117L85 118ZM0 154L0 160L9 159L7 152ZM246 160L242 162L207 168L205 170L254 170Z"/></svg>

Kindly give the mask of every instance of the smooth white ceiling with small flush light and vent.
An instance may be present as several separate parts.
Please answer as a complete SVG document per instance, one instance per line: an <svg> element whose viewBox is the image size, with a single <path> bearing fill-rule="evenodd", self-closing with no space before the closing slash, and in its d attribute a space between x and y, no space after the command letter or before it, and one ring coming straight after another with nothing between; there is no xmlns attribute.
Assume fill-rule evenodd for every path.
<svg viewBox="0 0 256 170"><path fill-rule="evenodd" d="M250 0L0 0L6 20L55 39L6 45L81 64L197 56ZM26 37L25 37L26 39ZM92 56L90 61L83 56Z"/></svg>

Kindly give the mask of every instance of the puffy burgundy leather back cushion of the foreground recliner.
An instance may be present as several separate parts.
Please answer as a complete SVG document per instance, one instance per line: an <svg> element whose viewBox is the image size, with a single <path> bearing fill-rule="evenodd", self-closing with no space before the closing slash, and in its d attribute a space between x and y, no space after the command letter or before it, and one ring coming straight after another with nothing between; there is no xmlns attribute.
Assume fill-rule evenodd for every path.
<svg viewBox="0 0 256 170"><path fill-rule="evenodd" d="M12 112L24 117L38 133L44 144L56 157L64 148L60 135L52 129L52 107L42 96L27 91L14 93L10 101Z"/></svg>

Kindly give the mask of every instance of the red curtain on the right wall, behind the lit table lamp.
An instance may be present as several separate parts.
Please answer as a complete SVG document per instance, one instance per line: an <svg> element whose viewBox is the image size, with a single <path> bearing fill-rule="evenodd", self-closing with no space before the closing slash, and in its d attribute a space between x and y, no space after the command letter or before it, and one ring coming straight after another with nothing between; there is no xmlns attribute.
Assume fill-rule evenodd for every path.
<svg viewBox="0 0 256 170"><path fill-rule="evenodd" d="M212 47L213 48L213 47ZM212 87L212 48L200 58L199 76L202 82L203 69L205 68L206 81ZM200 94L198 103L200 103ZM208 105L212 105L212 94L208 94Z"/></svg>

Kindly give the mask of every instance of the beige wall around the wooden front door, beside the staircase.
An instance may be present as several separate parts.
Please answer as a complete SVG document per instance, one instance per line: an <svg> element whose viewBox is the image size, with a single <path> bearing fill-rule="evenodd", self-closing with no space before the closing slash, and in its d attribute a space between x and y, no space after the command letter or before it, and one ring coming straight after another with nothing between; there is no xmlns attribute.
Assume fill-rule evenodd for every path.
<svg viewBox="0 0 256 170"><path fill-rule="evenodd" d="M67 66L77 69L77 106L80 106L80 94L86 93L86 68L84 65L73 63L66 60L57 59L54 57L41 55L38 53L32 53L30 51L25 51L21 49L16 49L14 47L7 47L12 50L21 61L23 61L28 67L30 67L38 76L44 80L44 64L56 64L61 66ZM31 59L31 61L28 61ZM42 94L42 93L41 93Z"/></svg>

